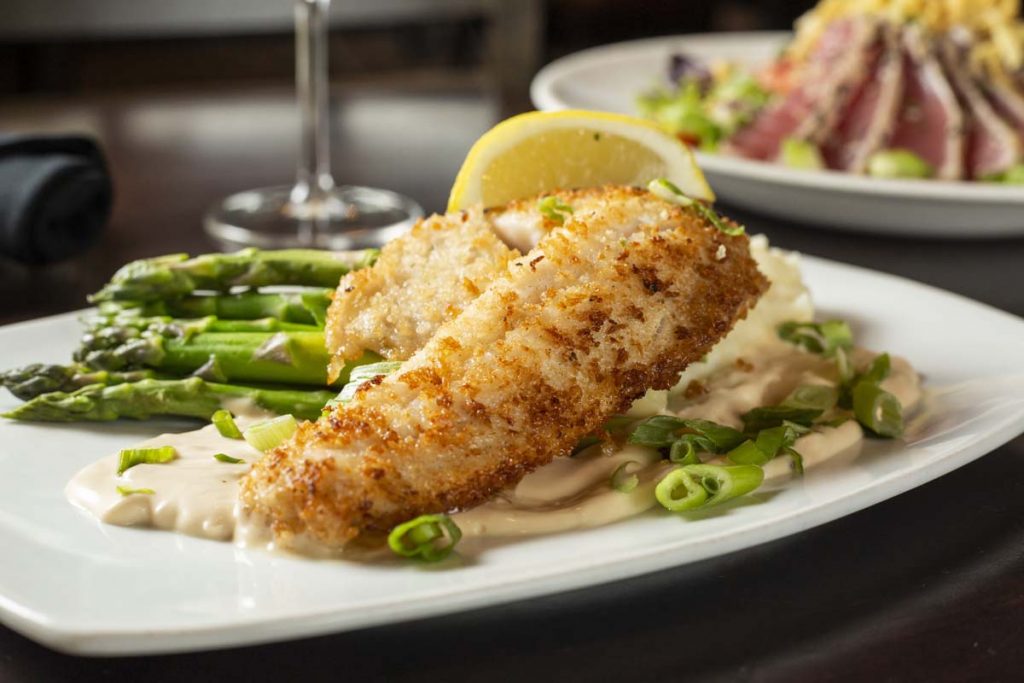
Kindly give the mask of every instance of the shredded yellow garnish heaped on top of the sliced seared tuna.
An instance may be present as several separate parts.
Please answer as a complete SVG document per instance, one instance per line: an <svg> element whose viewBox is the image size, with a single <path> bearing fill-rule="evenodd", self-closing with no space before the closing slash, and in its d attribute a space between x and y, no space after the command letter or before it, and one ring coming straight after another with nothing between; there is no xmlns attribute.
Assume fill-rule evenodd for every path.
<svg viewBox="0 0 1024 683"><path fill-rule="evenodd" d="M797 19L787 54L802 60L825 26L844 16L870 15L894 24L914 22L934 33L969 31L972 66L990 75L1024 66L1024 23L1020 0L821 0Z"/></svg>

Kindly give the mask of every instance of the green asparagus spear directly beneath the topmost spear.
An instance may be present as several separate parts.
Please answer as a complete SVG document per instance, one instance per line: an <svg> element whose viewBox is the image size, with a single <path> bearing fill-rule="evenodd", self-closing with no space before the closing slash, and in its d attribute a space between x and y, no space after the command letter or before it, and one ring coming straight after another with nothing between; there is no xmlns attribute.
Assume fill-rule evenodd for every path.
<svg viewBox="0 0 1024 683"><path fill-rule="evenodd" d="M332 290L302 292L244 292L186 296L166 301L103 301L101 315L132 313L139 316L205 317L249 321L273 317L283 323L301 323L324 327Z"/></svg>

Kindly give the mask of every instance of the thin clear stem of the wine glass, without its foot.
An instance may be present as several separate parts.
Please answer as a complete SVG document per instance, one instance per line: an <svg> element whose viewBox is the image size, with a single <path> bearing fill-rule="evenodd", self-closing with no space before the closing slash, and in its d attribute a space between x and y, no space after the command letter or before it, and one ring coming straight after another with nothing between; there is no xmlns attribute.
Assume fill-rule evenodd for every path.
<svg viewBox="0 0 1024 683"><path fill-rule="evenodd" d="M293 204L316 201L334 188L328 127L327 25L331 0L295 2L295 80L302 119Z"/></svg>

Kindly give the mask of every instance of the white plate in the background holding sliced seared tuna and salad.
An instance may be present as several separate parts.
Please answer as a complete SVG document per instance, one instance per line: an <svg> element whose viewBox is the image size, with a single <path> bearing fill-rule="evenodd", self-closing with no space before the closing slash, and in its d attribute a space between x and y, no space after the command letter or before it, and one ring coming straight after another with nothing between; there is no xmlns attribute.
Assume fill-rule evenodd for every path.
<svg viewBox="0 0 1024 683"><path fill-rule="evenodd" d="M535 77L542 111L599 110L636 115L640 91L665 78L669 56L748 65L771 59L788 33L678 36L596 47L554 61ZM1024 187L938 180L883 180L835 171L697 153L723 201L822 226L949 238L1024 234Z"/></svg>

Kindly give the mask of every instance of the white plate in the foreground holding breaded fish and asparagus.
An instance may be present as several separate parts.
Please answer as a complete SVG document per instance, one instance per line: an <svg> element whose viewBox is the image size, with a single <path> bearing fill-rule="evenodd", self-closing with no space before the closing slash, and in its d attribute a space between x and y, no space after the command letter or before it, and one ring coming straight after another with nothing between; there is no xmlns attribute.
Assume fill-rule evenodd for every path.
<svg viewBox="0 0 1024 683"><path fill-rule="evenodd" d="M296 638L593 586L728 553L836 519L934 479L1024 430L1024 321L930 287L806 259L822 315L911 358L933 395L908 443L718 514L650 514L496 545L442 567L360 565L237 550L99 524L63 498L79 468L185 423L0 423L0 621L60 650L138 654ZM3 365L60 360L72 315L0 329ZM14 404L9 395L0 409ZM899 520L893 520L898 523Z"/></svg>

